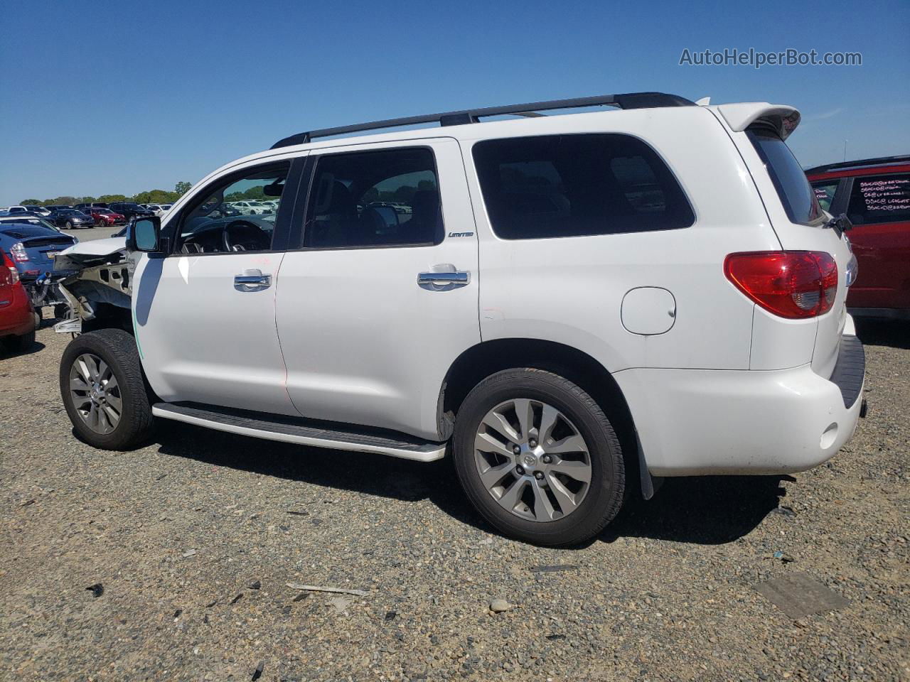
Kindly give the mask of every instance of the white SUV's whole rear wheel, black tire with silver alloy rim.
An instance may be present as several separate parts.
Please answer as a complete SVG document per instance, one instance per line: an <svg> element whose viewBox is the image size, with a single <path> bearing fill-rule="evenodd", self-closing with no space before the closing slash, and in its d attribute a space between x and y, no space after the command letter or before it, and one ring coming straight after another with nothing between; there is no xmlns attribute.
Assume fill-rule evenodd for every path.
<svg viewBox="0 0 910 682"><path fill-rule="evenodd" d="M536 449L527 447L528 435L521 433L525 429L514 418L519 406L523 409L528 405L533 409L530 422L538 425L527 429L531 436L540 435L540 429L547 431L544 438L553 435L546 438L546 443L537 444ZM509 433L513 437L509 437L506 430L486 426L495 421L490 415L498 414L497 411L508 417L512 427ZM543 415L552 415L554 411L559 416L555 420L550 417L551 428L545 428ZM497 422L499 424L501 421ZM508 429L509 425L504 428ZM481 432L484 435L481 436ZM505 446L486 447L490 435L497 441L504 440ZM576 436L581 436L581 442L575 439ZM586 452L572 454L566 449L570 446L570 437L572 446L581 443ZM491 454L479 450L475 441L484 449L490 449ZM549 456L553 464L549 465L543 464L547 461L548 444L553 453ZM516 445L521 448L521 457L518 453L508 455L510 451L514 453ZM557 455L560 451L561 455ZM580 386L541 369L506 369L488 376L471 390L456 418L453 458L461 486L480 515L504 535L535 545L578 545L600 533L622 506L625 467L622 447L610 420ZM531 463L535 458L536 462ZM519 462L531 463L528 466L534 469L534 476L528 476L530 470ZM481 478L483 466L489 468ZM583 473L574 473L576 467ZM571 476L589 476L590 480L585 487L571 476L567 478L564 471L571 471ZM488 484L497 480L501 472L505 472L501 486L494 488L484 484L484 480ZM538 476L537 481L532 480ZM554 476L556 481L553 481ZM520 484L523 488L512 487ZM510 494L520 489L517 504L507 508L511 505ZM566 492L571 495L566 496ZM574 499L574 502L561 503L563 499ZM526 504L523 500L529 502ZM565 509L556 509L557 506Z"/></svg>

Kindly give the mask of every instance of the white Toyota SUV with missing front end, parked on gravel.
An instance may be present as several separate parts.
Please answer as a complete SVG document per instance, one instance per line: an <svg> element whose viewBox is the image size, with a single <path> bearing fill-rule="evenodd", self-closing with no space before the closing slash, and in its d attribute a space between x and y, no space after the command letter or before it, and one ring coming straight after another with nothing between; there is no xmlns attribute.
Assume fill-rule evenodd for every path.
<svg viewBox="0 0 910 682"><path fill-rule="evenodd" d="M613 110L528 115L591 105ZM503 114L526 116L480 122ZM798 122L643 93L286 138L136 221L131 311L74 285L67 413L112 449L155 417L450 454L490 524L550 546L661 476L816 466L854 432L864 354L849 223L784 144ZM253 186L270 220L210 210Z"/></svg>

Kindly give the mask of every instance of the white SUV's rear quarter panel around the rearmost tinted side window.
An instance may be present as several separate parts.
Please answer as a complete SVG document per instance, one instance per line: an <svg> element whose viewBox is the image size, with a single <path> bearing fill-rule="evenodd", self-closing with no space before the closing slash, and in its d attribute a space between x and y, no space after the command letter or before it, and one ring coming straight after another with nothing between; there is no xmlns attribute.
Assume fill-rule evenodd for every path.
<svg viewBox="0 0 910 682"><path fill-rule="evenodd" d="M554 341L584 351L611 372L749 367L753 303L723 276L723 259L780 245L748 170L710 112L693 106L562 116L545 132L518 122L482 128L484 139L638 137L662 156L695 214L693 226L676 230L504 240L493 233L484 207L471 155L476 141L462 140L480 238L483 340ZM672 293L676 310L669 331L642 336L622 326L623 296L642 286Z"/></svg>

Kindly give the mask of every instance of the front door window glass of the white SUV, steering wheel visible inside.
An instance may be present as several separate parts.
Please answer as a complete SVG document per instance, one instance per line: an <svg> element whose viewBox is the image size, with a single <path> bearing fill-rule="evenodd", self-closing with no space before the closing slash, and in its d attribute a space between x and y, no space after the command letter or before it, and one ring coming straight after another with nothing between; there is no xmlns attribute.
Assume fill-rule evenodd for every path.
<svg viewBox="0 0 910 682"><path fill-rule="evenodd" d="M259 197L280 202L288 163L248 168L207 186L182 212L175 249L180 254L268 251L275 213L238 211L234 203Z"/></svg>

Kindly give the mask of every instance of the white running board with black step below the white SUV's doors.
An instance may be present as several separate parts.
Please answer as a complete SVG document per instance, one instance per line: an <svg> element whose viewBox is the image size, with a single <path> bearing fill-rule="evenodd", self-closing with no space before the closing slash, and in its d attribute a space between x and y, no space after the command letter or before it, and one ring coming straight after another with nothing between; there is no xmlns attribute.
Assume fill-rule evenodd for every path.
<svg viewBox="0 0 910 682"><path fill-rule="evenodd" d="M152 414L162 419L174 419L185 424L214 428L217 431L298 443L301 446L377 453L416 459L419 462L432 462L446 454L445 443L423 441L404 434L395 434L396 437L379 436L369 433L366 427L361 432L337 431L324 426L307 426L307 422L302 419L232 410L227 407L156 403L152 406Z"/></svg>

